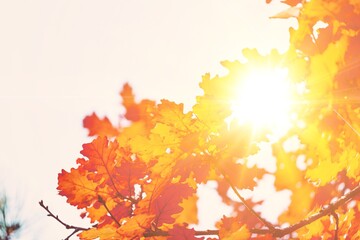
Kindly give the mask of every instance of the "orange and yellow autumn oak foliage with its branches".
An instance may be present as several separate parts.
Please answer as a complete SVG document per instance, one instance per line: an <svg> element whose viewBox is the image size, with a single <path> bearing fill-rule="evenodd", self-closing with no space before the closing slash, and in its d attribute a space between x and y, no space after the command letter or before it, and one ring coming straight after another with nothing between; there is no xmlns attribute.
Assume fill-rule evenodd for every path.
<svg viewBox="0 0 360 240"><path fill-rule="evenodd" d="M222 62L228 74L205 74L190 111L168 100L137 101L125 84L120 126L95 113L85 118L94 140L83 145L75 168L59 174L58 190L94 225L62 224L81 239L360 238L360 2L283 2L290 8L274 18L298 21L289 49L266 56L245 49L247 62ZM267 137L272 129L231 118L234 86L259 68L286 69L294 86L291 128L277 141ZM300 144L286 149L294 138ZM264 141L272 145L274 172L249 165ZM277 224L239 191L254 189L265 173L277 190L291 191ZM189 224L197 223L197 188L208 181L217 182L233 213L217 229L197 231Z"/></svg>

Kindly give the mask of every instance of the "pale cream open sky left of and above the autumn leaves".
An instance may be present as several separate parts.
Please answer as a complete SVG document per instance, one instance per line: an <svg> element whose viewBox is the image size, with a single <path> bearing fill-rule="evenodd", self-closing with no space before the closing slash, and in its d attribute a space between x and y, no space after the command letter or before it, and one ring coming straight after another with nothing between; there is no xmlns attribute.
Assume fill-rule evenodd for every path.
<svg viewBox="0 0 360 240"><path fill-rule="evenodd" d="M275 1L276 2L276 1ZM57 174L75 166L88 142L82 119L116 122L119 90L190 106L201 76L243 48L286 49L293 21L265 0L0 1L0 190L25 229L19 239L61 239L66 222L86 226L57 195ZM15 210L16 211L16 210Z"/></svg>

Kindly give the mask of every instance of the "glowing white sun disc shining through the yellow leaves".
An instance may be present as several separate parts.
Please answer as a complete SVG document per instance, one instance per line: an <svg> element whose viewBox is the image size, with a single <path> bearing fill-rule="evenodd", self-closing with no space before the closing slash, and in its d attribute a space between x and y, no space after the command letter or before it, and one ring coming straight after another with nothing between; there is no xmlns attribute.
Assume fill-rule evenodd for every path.
<svg viewBox="0 0 360 240"><path fill-rule="evenodd" d="M256 69L238 86L233 118L257 128L286 131L290 124L291 89L283 68Z"/></svg>

